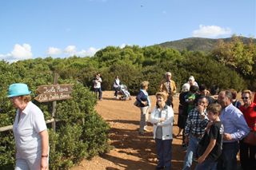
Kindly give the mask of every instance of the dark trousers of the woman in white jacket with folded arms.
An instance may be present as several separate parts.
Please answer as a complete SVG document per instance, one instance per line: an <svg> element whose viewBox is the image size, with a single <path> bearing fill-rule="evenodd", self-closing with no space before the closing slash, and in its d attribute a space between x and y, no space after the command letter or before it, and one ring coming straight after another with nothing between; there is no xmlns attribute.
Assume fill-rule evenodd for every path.
<svg viewBox="0 0 256 170"><path fill-rule="evenodd" d="M171 166L171 145L173 140L155 139L158 154L157 169L170 169Z"/></svg>

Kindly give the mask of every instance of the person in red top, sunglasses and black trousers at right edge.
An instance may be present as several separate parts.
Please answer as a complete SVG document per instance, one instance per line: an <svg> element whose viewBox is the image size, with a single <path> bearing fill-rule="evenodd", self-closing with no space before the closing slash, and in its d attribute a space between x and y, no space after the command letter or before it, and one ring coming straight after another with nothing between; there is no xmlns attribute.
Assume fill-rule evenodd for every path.
<svg viewBox="0 0 256 170"><path fill-rule="evenodd" d="M256 104L252 100L250 90L242 91L243 105L240 106L240 110L250 131L256 132ZM240 140L239 144L242 169L256 169L256 145L247 144L244 140Z"/></svg>

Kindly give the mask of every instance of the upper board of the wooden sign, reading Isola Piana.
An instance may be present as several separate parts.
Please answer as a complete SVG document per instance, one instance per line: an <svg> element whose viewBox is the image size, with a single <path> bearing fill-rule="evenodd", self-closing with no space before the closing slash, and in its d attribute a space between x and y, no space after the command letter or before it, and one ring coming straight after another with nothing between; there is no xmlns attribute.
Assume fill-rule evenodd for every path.
<svg viewBox="0 0 256 170"><path fill-rule="evenodd" d="M72 92L71 84L62 84L62 85L40 85L37 89L39 94L45 93L71 93Z"/></svg>

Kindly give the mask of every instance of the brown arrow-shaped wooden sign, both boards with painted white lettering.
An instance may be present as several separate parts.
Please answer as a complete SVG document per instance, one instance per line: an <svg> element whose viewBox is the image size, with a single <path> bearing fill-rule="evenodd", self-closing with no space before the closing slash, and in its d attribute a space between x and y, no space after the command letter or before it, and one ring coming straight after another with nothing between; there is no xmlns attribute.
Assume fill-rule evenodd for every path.
<svg viewBox="0 0 256 170"><path fill-rule="evenodd" d="M40 85L37 92L39 94L34 99L39 102L62 101L72 98L72 85Z"/></svg>

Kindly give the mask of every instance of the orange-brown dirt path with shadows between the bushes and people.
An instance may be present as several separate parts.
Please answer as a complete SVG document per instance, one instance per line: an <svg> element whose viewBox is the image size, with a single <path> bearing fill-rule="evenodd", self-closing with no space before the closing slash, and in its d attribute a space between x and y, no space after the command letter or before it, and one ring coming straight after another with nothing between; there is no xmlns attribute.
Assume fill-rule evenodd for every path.
<svg viewBox="0 0 256 170"><path fill-rule="evenodd" d="M103 100L98 101L97 112L110 124L110 144L114 147L103 156L96 156L92 160L83 160L72 170L117 170L117 169L154 169L157 163L153 127L145 136L138 135L140 111L131 101L117 101L113 92L103 92ZM155 97L150 97L155 103ZM174 134L178 133L178 97L174 97ZM172 169L181 169L185 152L181 149L181 137L174 138L172 145Z"/></svg>

